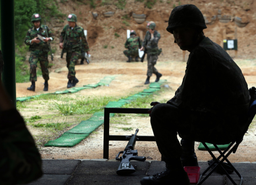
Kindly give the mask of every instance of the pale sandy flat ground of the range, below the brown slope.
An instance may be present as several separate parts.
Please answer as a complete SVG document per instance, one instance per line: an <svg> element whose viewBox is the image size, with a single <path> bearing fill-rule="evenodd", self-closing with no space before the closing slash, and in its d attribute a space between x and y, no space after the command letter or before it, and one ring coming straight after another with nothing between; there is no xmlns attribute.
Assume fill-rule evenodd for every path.
<svg viewBox="0 0 256 185"><path fill-rule="evenodd" d="M241 67L249 87L256 82L256 65L255 60L237 60L238 65ZM161 59L161 56L156 65L157 69L163 74L161 79L167 80L163 85L168 85L165 91L160 95L156 101L166 102L169 100L175 92L175 89L182 82L184 71L186 68L186 62L182 61L165 61ZM85 89L74 93L71 96L129 96L137 92L143 91L148 85L144 85L146 78L147 64L141 62L126 63L124 61L106 61L106 62L93 62L89 65L76 65L76 76L80 80L77 84L78 87L89 83L97 83L100 79L108 75L115 74L115 79L109 84L109 86L101 86L95 89ZM64 90L67 86L67 69L63 67L56 72L50 73L49 81L49 93L53 93L58 90ZM151 81L154 81L155 76ZM30 92L26 90L26 87L30 83L18 83L17 84L17 97L32 96L35 94L43 93L43 78L39 77L36 82L36 91ZM69 95L70 96L70 95ZM150 103L150 102L149 102ZM150 106L149 106L150 107ZM49 114L47 110L30 110L21 112L22 116L31 117L35 114ZM122 131L122 129L116 129L116 125L110 122L110 134L112 135L130 135L135 132L135 128L139 129L139 135L153 135L150 126L149 117L134 117L128 118L129 125L125 127L134 128L133 131ZM95 134L91 134L88 138L80 142L78 145L72 148L63 147L41 147L40 153L42 158L47 159L95 159L103 158L103 126L99 127ZM33 129L30 129L33 135ZM246 134L243 143L237 150L236 155L231 155L231 161L256 161L255 144L256 136L254 135L255 125L250 128L249 134ZM109 159L114 159L119 151L122 151L126 146L126 141L110 141L109 142ZM196 148L199 143L196 143ZM161 160L160 153L158 152L155 142L140 142L137 141L136 149L139 151L139 155L146 156L150 160ZM204 151L198 151L198 160L209 160L210 156Z"/></svg>

